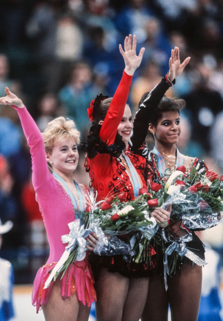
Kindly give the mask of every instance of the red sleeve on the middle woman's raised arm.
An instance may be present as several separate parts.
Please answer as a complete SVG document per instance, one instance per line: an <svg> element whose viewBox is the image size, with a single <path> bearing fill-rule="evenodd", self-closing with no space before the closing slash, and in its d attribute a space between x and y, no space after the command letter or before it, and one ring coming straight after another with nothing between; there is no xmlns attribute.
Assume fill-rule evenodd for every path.
<svg viewBox="0 0 223 321"><path fill-rule="evenodd" d="M111 145L115 141L117 134L117 128L120 124L120 121L123 117L125 105L128 99L129 89L132 83L132 77L123 72L121 81L118 88L114 94L114 97L111 100L107 115L104 119L102 128L100 130L100 138L107 145Z"/></svg>

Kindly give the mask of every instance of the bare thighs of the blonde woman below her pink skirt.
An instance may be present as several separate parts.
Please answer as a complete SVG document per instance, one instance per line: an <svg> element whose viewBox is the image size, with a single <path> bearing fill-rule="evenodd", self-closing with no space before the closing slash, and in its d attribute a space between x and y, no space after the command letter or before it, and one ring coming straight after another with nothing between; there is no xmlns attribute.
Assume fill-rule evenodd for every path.
<svg viewBox="0 0 223 321"><path fill-rule="evenodd" d="M87 321L90 314L90 308L79 304L76 294L62 299L60 278L55 281L49 301L42 309L46 321Z"/></svg>

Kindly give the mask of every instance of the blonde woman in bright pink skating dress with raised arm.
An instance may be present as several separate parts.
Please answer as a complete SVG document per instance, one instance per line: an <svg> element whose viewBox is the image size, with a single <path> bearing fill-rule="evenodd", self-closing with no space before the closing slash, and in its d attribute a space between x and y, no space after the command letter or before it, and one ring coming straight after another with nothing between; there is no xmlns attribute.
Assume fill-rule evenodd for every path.
<svg viewBox="0 0 223 321"><path fill-rule="evenodd" d="M37 313L40 307L43 309L47 321L87 321L91 303L96 299L87 255L82 261L75 261L62 280L59 276L44 289L48 272L59 261L67 245L62 243L61 236L69 234L68 223L78 219L90 202L87 187L73 179L78 165L80 133L72 120L58 117L49 122L41 134L22 101L7 87L5 92L0 104L12 105L18 112L30 147L32 182L50 245L49 258L34 281L32 304L37 306ZM88 235L87 243L87 250L93 251L94 234Z"/></svg>

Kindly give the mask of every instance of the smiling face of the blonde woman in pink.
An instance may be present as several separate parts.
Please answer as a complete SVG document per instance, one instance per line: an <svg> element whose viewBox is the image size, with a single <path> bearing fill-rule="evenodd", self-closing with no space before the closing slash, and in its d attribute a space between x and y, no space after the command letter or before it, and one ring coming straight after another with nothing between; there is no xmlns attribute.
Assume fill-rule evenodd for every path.
<svg viewBox="0 0 223 321"><path fill-rule="evenodd" d="M46 154L46 160L52 161L52 170L60 174L69 175L78 166L78 149L73 137L62 138L54 142L51 153Z"/></svg>

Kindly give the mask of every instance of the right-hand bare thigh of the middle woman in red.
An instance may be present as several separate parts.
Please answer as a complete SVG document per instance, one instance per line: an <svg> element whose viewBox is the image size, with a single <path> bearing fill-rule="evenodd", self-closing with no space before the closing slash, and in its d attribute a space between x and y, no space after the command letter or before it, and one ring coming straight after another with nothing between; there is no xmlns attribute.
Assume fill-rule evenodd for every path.
<svg viewBox="0 0 223 321"><path fill-rule="evenodd" d="M122 321L138 321L145 307L149 278L129 279L128 295L123 307Z"/></svg>

